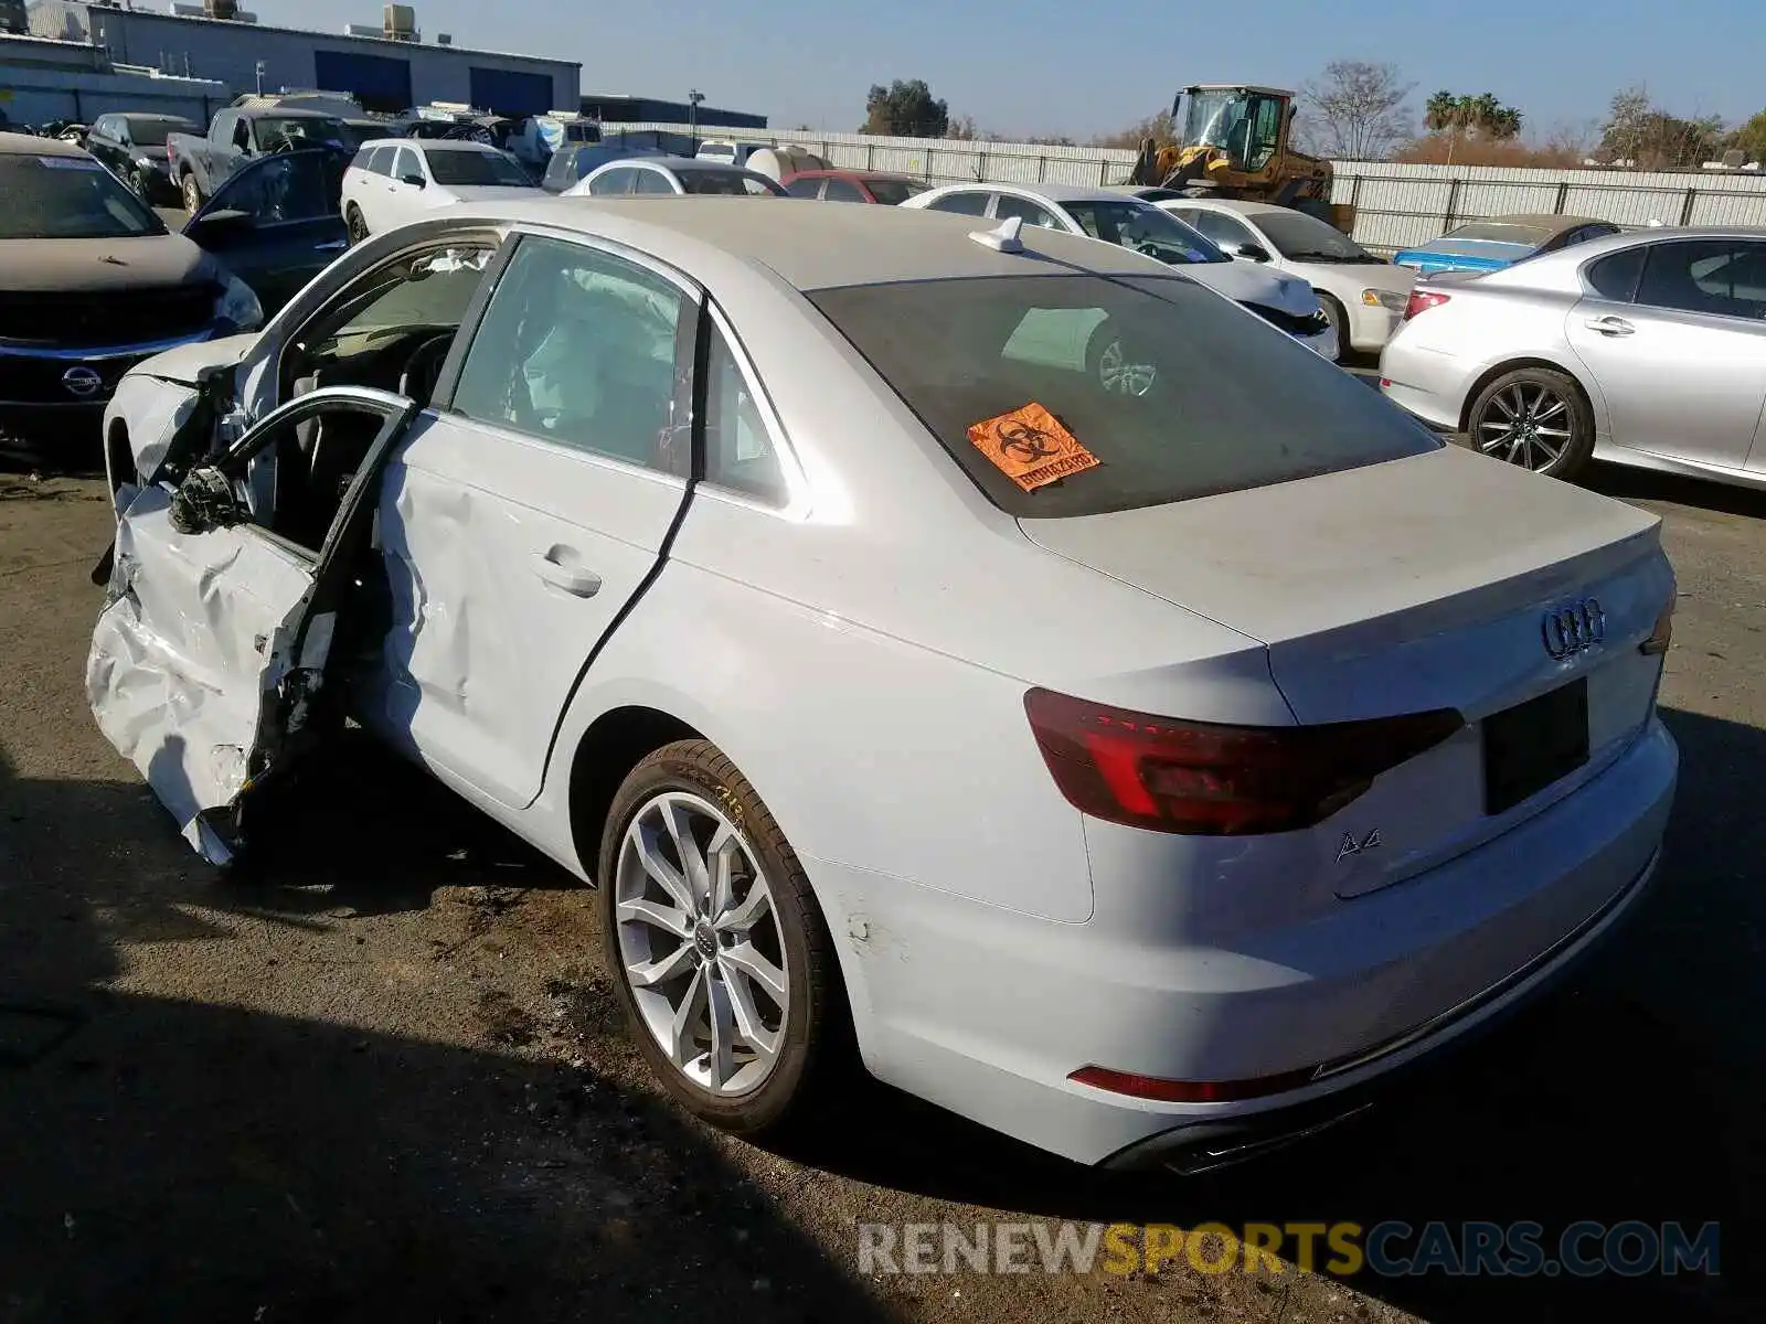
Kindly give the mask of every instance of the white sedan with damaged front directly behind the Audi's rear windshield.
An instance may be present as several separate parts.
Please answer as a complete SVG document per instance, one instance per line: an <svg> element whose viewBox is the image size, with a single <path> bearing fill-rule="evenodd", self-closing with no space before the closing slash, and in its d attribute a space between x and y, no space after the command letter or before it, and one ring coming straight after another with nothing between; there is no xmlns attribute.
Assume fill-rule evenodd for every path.
<svg viewBox="0 0 1766 1324"><path fill-rule="evenodd" d="M1070 184L950 184L915 194L901 207L955 212L994 221L1017 217L1024 226L1061 229L1104 240L1181 267L1201 284L1264 321L1280 327L1309 350L1337 358L1337 332L1305 281L1234 265L1211 240L1151 203L1113 189Z"/></svg>

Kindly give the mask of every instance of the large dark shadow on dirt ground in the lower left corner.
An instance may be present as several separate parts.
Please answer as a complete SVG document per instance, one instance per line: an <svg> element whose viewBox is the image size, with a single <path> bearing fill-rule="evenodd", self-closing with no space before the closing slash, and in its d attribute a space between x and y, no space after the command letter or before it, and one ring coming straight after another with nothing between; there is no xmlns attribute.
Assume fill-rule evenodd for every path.
<svg viewBox="0 0 1766 1324"><path fill-rule="evenodd" d="M104 989L237 907L182 854L138 786L0 754L0 1317L881 1319L606 1077Z"/></svg>

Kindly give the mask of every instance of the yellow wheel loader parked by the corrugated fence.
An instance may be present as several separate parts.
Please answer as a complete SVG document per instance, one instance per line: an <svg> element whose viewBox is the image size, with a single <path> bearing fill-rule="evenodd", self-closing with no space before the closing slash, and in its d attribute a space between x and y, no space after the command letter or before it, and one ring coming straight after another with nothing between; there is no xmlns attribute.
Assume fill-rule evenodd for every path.
<svg viewBox="0 0 1766 1324"><path fill-rule="evenodd" d="M1171 102L1178 141L1141 141L1128 184L1238 198L1310 212L1346 235L1355 208L1332 203L1332 166L1293 145L1294 94L1247 83L1197 83Z"/></svg>

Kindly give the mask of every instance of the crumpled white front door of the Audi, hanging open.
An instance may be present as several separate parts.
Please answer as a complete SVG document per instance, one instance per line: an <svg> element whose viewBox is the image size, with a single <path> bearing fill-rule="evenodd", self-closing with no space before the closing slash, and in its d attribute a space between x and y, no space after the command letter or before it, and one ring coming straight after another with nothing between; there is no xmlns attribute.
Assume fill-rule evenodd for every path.
<svg viewBox="0 0 1766 1324"><path fill-rule="evenodd" d="M371 553L381 470L417 411L371 387L311 390L122 512L87 694L212 863L238 853L247 801L339 717L327 666ZM283 466L275 500L251 500L254 461L298 450L302 429L320 447L360 445L339 441L348 455L323 471L316 455L306 473Z"/></svg>

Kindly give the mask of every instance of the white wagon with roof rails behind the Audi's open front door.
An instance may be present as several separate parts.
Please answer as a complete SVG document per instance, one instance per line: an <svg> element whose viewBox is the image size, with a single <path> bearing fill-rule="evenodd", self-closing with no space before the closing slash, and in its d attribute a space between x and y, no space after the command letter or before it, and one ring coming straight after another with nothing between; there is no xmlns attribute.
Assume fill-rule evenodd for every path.
<svg viewBox="0 0 1766 1324"><path fill-rule="evenodd" d="M350 240L419 221L456 203L532 198L540 187L509 152L452 138L376 138L343 173Z"/></svg>

